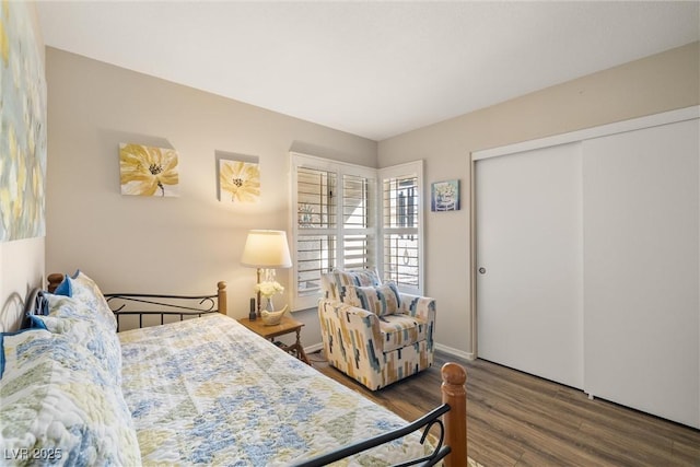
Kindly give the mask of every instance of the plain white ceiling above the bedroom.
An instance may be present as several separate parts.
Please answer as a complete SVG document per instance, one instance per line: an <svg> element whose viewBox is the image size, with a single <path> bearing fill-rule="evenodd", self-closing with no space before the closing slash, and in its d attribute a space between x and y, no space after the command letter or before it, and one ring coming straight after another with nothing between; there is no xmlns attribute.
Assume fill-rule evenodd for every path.
<svg viewBox="0 0 700 467"><path fill-rule="evenodd" d="M383 140L699 39L699 1L39 1L46 45Z"/></svg>

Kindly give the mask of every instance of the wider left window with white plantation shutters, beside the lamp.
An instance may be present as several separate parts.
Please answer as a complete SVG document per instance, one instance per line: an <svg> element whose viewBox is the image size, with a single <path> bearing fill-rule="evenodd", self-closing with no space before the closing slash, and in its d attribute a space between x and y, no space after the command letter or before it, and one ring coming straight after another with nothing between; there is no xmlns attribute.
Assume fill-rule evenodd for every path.
<svg viewBox="0 0 700 467"><path fill-rule="evenodd" d="M376 171L292 153L293 310L316 305L320 275L376 265Z"/></svg>

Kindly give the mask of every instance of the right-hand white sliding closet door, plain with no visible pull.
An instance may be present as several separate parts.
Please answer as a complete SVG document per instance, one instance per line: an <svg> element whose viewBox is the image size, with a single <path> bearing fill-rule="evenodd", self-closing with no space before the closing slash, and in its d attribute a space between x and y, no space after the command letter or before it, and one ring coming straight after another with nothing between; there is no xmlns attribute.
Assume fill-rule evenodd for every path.
<svg viewBox="0 0 700 467"><path fill-rule="evenodd" d="M698 121L583 143L585 390L696 428Z"/></svg>

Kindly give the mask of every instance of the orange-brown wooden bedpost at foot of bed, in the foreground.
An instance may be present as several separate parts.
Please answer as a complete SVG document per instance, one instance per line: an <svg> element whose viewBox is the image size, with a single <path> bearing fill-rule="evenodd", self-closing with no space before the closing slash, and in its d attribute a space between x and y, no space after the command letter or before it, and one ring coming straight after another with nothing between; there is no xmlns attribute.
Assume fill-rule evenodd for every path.
<svg viewBox="0 0 700 467"><path fill-rule="evenodd" d="M457 363L445 363L442 373L442 402L450 405L443 416L445 444L452 452L445 457L445 467L467 465L467 372Z"/></svg>

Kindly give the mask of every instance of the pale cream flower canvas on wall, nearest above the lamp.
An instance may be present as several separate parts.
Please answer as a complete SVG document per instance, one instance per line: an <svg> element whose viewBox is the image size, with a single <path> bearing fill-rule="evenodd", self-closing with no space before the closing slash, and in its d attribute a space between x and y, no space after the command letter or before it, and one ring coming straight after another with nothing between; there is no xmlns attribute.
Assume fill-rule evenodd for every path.
<svg viewBox="0 0 700 467"><path fill-rule="evenodd" d="M257 157L217 154L218 195L222 202L258 202L260 168Z"/></svg>

